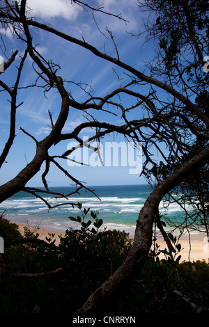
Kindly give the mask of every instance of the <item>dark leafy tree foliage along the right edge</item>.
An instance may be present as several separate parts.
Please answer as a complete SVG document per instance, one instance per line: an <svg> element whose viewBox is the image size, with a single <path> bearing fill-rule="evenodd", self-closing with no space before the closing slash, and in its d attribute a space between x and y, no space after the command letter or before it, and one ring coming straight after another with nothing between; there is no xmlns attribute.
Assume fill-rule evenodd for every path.
<svg viewBox="0 0 209 327"><path fill-rule="evenodd" d="M156 21L146 26L147 38L159 42L155 58L157 65L150 63L150 70L159 76L162 74L164 81L170 81L187 97L194 97L199 109L208 116L208 74L205 73L207 56L203 57L208 54L208 3L145 1L140 6L146 10L152 8L157 14ZM164 36L165 33L167 37ZM203 69L198 63L203 65ZM192 128L192 117L189 122ZM178 161L175 156L171 156L167 163L160 162L157 169L147 172L148 180L151 176L155 176L158 182L164 180L180 164L208 146L208 130L203 129L201 134L194 131L194 135L196 137L191 138L194 144L182 152ZM204 228L208 236L208 164L178 184L176 192L180 192L181 197L174 198L173 192L174 190L169 192L167 203L177 200L188 217L181 228ZM187 203L194 207L193 215L187 212Z"/></svg>

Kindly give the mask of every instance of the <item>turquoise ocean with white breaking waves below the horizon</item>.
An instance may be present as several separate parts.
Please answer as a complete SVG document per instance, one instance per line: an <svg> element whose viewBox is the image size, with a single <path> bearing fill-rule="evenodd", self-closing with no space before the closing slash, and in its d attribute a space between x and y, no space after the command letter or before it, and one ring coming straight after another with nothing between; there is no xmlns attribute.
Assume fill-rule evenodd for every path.
<svg viewBox="0 0 209 327"><path fill-rule="evenodd" d="M75 193L69 197L70 202L82 202L83 208L99 212L98 218L102 218L103 228L107 230L125 230L130 237L134 236L134 229L139 212L148 198L152 189L147 185L124 185L124 186L88 186L98 198L91 192L82 189L79 194ZM52 191L59 193L70 193L72 186L54 187ZM67 202L65 199L57 199L48 194L42 196L49 200L51 205ZM90 211L91 211L90 210ZM42 200L35 198L29 193L19 192L15 196L8 198L0 204L0 212L12 223L22 223L48 228L54 231L65 231L68 228L79 228L77 222L70 221L69 216L78 216L79 209L70 205L61 205L48 209ZM164 207L164 202L160 204L160 212L167 214L172 221L183 220L183 210L173 203L169 208ZM88 213L90 220L91 215Z"/></svg>

